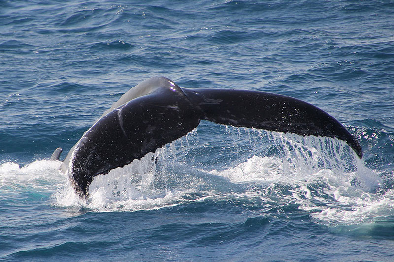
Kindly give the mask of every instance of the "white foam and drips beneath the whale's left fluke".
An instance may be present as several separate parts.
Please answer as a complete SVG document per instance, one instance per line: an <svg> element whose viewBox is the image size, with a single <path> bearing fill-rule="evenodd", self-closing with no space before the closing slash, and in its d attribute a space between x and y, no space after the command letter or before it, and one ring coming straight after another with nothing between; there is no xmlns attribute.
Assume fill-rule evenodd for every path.
<svg viewBox="0 0 394 262"><path fill-rule="evenodd" d="M56 205L80 206L92 211L106 212L152 210L190 201L188 197L197 193L193 183L186 187L168 188L168 177L165 177L168 174L157 172L156 161L162 157L161 152L162 150L158 149L155 154L149 153L125 167L96 176L89 186L86 200L81 200L75 194L71 183L67 182L66 186L54 195ZM166 152L173 156L171 150ZM184 185L182 181L177 184Z"/></svg>

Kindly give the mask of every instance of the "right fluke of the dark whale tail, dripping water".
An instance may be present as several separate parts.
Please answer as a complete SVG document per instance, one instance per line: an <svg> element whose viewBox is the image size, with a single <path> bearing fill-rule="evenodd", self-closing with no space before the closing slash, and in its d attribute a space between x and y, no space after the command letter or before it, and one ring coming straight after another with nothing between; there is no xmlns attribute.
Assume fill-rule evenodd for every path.
<svg viewBox="0 0 394 262"><path fill-rule="evenodd" d="M183 90L203 112L202 119L236 127L337 138L362 158L359 141L340 122L302 100L249 90Z"/></svg>

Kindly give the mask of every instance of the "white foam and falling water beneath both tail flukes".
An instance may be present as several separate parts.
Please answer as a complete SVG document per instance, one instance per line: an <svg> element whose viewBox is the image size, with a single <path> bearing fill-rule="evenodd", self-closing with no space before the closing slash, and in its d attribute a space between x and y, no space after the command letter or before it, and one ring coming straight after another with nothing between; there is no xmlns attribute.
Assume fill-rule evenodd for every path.
<svg viewBox="0 0 394 262"><path fill-rule="evenodd" d="M238 165L221 170L178 165L178 156L197 147L195 143L201 143L195 131L190 137L177 140L141 161L135 160L107 175L98 175L90 185L86 201L81 201L68 183L65 190L55 194L56 203L101 212L157 209L205 197L260 198L262 203L298 204L299 209L309 212L314 220L328 225L360 223L393 210L393 193L373 193L379 186L378 175L365 167L341 141L232 127L225 127L225 132L230 137L230 141L225 142L230 144L229 150L236 149L239 143L248 143L258 152L264 151L261 147L268 144L275 146L276 153L274 156L252 155ZM152 161L154 158L162 165L157 167ZM198 177L198 171L251 187L244 193L218 193L209 184L212 180ZM256 182L265 185L263 194L253 191ZM280 184L287 185L291 194L284 194L281 187L275 186ZM193 194L195 196L190 198Z"/></svg>

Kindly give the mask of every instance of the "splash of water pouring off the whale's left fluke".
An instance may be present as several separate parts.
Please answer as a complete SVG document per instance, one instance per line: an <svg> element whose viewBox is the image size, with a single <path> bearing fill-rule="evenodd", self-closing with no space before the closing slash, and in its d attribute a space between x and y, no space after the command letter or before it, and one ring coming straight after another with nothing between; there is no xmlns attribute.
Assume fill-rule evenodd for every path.
<svg viewBox="0 0 394 262"><path fill-rule="evenodd" d="M201 179L183 174L177 164L179 148L188 146L186 137L145 155L141 160L98 175L89 186L89 197L81 200L69 181L54 194L55 205L80 206L97 212L152 210L198 200L203 197ZM172 169L173 165L176 170ZM206 181L205 181L206 182Z"/></svg>

